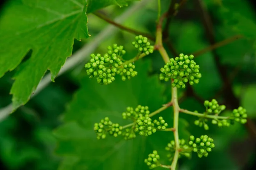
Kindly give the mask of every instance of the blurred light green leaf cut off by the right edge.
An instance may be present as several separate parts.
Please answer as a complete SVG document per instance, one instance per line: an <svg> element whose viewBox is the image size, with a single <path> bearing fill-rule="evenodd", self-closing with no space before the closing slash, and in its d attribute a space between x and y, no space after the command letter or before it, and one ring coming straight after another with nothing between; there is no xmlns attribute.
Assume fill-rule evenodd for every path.
<svg viewBox="0 0 256 170"><path fill-rule="evenodd" d="M245 89L241 99L241 106L247 110L247 115L250 118L256 117L255 96L256 96L256 85L252 84Z"/></svg>

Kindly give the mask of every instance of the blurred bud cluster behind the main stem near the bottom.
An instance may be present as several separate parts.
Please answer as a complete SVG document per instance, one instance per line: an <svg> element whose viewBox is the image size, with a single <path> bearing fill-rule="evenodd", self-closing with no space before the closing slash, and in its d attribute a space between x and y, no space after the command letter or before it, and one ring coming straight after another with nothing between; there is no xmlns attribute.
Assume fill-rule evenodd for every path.
<svg viewBox="0 0 256 170"><path fill-rule="evenodd" d="M179 158L181 156L185 156L189 158L191 156L191 150L190 147L186 144L186 141L184 139L179 139L180 144L180 154ZM169 161L172 161L173 156L175 154L175 141L170 141L170 143L167 144L165 147L165 150L169 151L167 157L169 158Z"/></svg>

